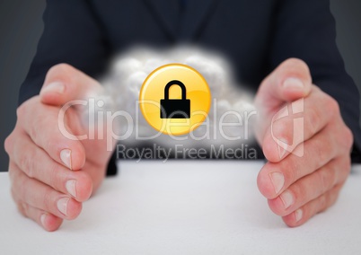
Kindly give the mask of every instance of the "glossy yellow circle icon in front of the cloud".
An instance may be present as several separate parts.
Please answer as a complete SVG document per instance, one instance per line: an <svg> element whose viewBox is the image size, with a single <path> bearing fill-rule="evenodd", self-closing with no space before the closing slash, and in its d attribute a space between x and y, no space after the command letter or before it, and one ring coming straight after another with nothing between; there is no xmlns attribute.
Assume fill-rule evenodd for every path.
<svg viewBox="0 0 361 255"><path fill-rule="evenodd" d="M155 130L180 136L195 130L207 118L211 92L197 70L170 64L146 77L139 104L145 120Z"/></svg>

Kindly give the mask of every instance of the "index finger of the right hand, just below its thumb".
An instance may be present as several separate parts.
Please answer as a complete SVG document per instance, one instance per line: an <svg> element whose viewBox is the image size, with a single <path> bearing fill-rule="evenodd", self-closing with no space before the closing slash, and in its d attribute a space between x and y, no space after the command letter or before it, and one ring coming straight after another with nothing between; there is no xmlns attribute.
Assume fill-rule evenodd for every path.
<svg viewBox="0 0 361 255"><path fill-rule="evenodd" d="M262 141L263 153L270 162L279 162L330 121L341 122L339 116L338 102L313 86L307 98L286 105L273 117Z"/></svg>

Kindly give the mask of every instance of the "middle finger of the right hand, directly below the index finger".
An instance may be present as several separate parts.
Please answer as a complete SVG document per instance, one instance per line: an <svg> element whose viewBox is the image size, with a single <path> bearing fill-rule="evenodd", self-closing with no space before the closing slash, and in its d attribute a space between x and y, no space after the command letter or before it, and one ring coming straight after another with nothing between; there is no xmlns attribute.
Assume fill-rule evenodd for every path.
<svg viewBox="0 0 361 255"><path fill-rule="evenodd" d="M328 125L312 139L304 142L304 155L289 154L279 163L266 163L261 169L257 183L260 192L272 199L287 189L296 180L329 163L331 159L349 152L350 141L345 137L347 128ZM330 134L333 135L330 137ZM336 134L339 134L338 136Z"/></svg>

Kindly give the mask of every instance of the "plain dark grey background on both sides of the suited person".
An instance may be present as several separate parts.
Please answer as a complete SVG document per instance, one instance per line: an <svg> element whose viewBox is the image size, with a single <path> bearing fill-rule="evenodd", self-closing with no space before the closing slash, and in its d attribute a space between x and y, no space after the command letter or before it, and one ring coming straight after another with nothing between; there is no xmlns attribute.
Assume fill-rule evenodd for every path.
<svg viewBox="0 0 361 255"><path fill-rule="evenodd" d="M315 0L317 1L317 0ZM338 45L346 69L361 91L361 1L331 0ZM4 139L16 122L19 87L36 52L43 30L45 0L0 0L0 171L7 171Z"/></svg>

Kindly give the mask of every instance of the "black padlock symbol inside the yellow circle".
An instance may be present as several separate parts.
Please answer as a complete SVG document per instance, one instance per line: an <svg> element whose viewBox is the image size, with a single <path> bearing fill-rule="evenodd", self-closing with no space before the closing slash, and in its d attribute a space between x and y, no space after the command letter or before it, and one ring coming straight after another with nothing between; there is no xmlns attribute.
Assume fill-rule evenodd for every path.
<svg viewBox="0 0 361 255"><path fill-rule="evenodd" d="M169 99L172 85L181 87L181 99ZM190 100L187 99L187 89L180 81L173 80L165 85L164 99L161 100L161 119L189 119Z"/></svg>

